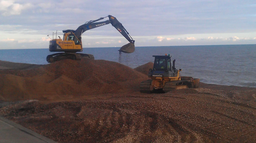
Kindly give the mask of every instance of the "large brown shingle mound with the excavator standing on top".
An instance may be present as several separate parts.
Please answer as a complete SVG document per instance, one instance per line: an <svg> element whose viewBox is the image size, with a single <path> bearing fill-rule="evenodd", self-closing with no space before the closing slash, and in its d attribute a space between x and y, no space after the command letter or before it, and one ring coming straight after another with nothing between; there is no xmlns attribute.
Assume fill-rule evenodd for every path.
<svg viewBox="0 0 256 143"><path fill-rule="evenodd" d="M122 64L83 58L29 70L0 70L0 100L72 99L136 91L147 77Z"/></svg>

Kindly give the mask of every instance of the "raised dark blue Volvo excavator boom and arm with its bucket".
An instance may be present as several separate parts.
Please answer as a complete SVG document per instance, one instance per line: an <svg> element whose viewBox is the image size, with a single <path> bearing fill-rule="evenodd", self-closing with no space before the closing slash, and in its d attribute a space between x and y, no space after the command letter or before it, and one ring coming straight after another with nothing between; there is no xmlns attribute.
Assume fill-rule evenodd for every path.
<svg viewBox="0 0 256 143"><path fill-rule="evenodd" d="M106 17L109 17L109 20L106 20L106 21L101 21L101 22L96 22L96 21L99 21L101 19L104 19ZM106 16L106 17L100 17L99 19L96 19L96 20L91 20L91 21L88 21L82 25L80 25L76 30L75 30L75 38L74 38L74 41L75 43L79 43L79 40L81 35L88 31L88 30L91 30L93 28L96 28L96 27L100 27L100 26L103 26L103 25L107 25L109 23L112 24L112 26L114 26L116 28L117 31L119 31L122 36L124 38L126 38L130 43L126 44L126 45L123 45L119 51L121 52L125 52L125 53L132 53L134 52L135 50L135 45L134 45L134 42L135 40L133 40L133 38L129 35L129 33L126 31L126 29L123 27L122 23L120 23L116 17L112 16L112 15L109 15L109 16Z"/></svg>

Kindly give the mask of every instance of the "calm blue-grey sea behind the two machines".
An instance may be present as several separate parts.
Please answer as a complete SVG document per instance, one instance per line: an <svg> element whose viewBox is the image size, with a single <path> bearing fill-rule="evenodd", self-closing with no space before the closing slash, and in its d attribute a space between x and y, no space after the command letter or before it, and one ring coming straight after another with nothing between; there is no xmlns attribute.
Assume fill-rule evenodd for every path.
<svg viewBox="0 0 256 143"><path fill-rule="evenodd" d="M206 45L136 47L133 53L119 54L120 47L83 48L96 60L108 60L136 68L154 62L153 55L172 55L182 76L200 78L201 82L256 88L256 45ZM2 49L0 60L49 64L49 49ZM1 66L1 65L0 65ZM90 68L90 67L88 67Z"/></svg>

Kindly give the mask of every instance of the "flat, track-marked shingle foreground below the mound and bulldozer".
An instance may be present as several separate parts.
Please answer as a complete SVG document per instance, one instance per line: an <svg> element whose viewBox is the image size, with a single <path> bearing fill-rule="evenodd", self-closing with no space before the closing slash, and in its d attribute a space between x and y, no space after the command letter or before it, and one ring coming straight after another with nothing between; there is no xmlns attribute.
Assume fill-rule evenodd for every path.
<svg viewBox="0 0 256 143"><path fill-rule="evenodd" d="M253 114L246 112L247 107L223 104L220 98L229 100L201 94L118 95L110 99L20 104L8 108L9 113L3 107L1 113L23 116L14 119L59 142L253 141L255 124L248 122L254 120ZM27 112L31 108L33 112ZM239 116L226 115L225 110ZM245 115L248 119L240 122ZM37 118L31 120L31 116ZM41 122L46 124L38 124Z"/></svg>

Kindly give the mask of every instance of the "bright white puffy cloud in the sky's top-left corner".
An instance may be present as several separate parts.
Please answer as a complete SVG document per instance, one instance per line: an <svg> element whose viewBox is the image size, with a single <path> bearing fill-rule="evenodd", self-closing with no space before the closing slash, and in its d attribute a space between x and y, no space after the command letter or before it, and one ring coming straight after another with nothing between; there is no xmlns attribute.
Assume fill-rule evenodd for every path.
<svg viewBox="0 0 256 143"><path fill-rule="evenodd" d="M0 5L0 13L3 16L20 15L22 11L32 7L32 4L30 3L18 4L14 1L7 0L0 1Z"/></svg>

